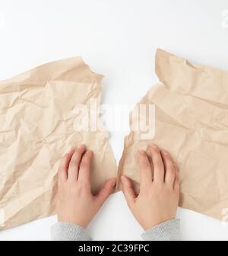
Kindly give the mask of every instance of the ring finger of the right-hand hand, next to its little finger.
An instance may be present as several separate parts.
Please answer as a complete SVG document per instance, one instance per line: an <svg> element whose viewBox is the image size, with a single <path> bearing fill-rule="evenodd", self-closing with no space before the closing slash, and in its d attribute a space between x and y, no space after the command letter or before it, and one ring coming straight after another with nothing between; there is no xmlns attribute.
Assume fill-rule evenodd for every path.
<svg viewBox="0 0 228 256"><path fill-rule="evenodd" d="M161 155L165 167L165 183L169 184L170 187L173 187L173 182L175 180L175 167L173 159L169 155L169 152L167 152L166 150L162 150Z"/></svg>

